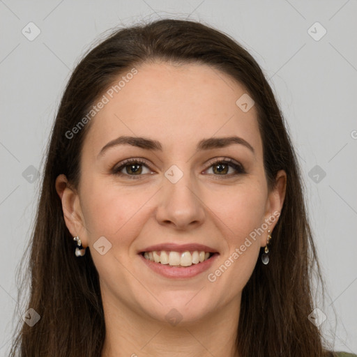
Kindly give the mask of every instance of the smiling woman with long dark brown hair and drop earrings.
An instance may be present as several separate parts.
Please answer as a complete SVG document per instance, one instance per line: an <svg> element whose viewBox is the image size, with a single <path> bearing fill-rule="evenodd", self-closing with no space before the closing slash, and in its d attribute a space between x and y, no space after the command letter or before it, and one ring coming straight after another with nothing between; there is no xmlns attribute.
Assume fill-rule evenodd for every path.
<svg viewBox="0 0 357 357"><path fill-rule="evenodd" d="M197 22L121 29L63 94L11 356L342 356L319 332L314 267L252 56Z"/></svg>

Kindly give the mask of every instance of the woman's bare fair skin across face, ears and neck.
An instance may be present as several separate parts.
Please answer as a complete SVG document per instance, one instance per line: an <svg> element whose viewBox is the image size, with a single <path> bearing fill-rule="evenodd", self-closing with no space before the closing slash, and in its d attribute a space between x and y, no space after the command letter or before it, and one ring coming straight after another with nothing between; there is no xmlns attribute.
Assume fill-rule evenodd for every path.
<svg viewBox="0 0 357 357"><path fill-rule="evenodd" d="M286 174L278 172L276 188L268 192L257 112L254 106L248 112L237 107L246 91L231 77L202 64L155 62L137 70L91 121L79 188L64 175L56 179L66 225L89 247L100 276L106 324L102 356L238 356L241 291L278 219L215 282L207 275L281 211ZM98 158L120 135L158 140L162 152L126 144ZM245 139L255 153L241 144L196 151L201 139L231 135ZM123 176L112 174L127 158L146 159L147 166L137 167L141 176L125 168ZM230 175L233 167L220 174L208 162L212 158L231 158L246 174ZM183 172L177 183L165 177L172 165ZM93 248L100 236L112 244L105 255ZM168 242L202 243L220 256L194 278L164 278L137 252ZM173 308L182 317L176 326L165 319Z"/></svg>

